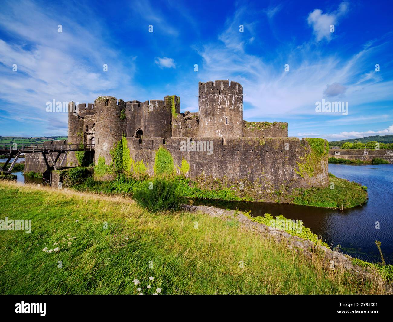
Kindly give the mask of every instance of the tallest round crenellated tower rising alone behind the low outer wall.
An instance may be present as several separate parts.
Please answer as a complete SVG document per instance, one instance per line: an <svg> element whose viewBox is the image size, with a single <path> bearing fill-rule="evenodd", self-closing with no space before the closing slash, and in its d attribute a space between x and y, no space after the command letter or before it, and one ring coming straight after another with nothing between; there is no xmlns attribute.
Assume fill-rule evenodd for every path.
<svg viewBox="0 0 393 322"><path fill-rule="evenodd" d="M218 80L199 82L199 136L243 136L243 87Z"/></svg>

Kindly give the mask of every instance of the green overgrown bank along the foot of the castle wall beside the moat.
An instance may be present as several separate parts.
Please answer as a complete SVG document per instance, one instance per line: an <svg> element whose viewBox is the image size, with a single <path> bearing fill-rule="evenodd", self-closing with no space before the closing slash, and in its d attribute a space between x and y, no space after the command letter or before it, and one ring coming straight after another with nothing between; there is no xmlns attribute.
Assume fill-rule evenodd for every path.
<svg viewBox="0 0 393 322"><path fill-rule="evenodd" d="M151 180L151 178L146 181L121 178L113 181L96 181L94 178L89 177L83 182L73 185L72 189L94 193L132 194L139 186ZM190 199L264 201L323 208L341 208L341 204L343 204L343 208L351 208L367 202L367 187L362 187L356 182L349 182L348 180L337 178L330 173L329 186L327 188L296 188L292 191L282 189L274 192L264 189L257 192L253 191L253 195L244 192L244 190L239 190L239 185L233 185L227 188L218 179L216 179L217 186L211 183L211 186L214 187L212 189L201 188L195 182L184 176L174 176L174 180L178 183L179 195ZM333 189L331 189L332 182L334 183Z"/></svg>

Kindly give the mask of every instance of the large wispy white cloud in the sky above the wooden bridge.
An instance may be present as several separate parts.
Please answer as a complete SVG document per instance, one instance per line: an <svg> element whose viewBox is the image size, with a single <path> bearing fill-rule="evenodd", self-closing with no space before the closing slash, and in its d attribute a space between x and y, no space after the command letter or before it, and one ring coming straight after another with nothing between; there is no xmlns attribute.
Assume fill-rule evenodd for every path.
<svg viewBox="0 0 393 322"><path fill-rule="evenodd" d="M88 15L89 8L84 12ZM10 116L4 117L25 125L34 120L43 134L64 135L60 124L66 126L67 115L48 115L47 101L87 103L102 94L128 98L131 93L143 93L132 81L136 58L123 63L103 40L105 24L98 20L81 26L72 17L46 12L34 2L9 2L0 12L0 28L13 39L0 39L0 97L4 107L12 107ZM12 71L13 64L17 72Z"/></svg>

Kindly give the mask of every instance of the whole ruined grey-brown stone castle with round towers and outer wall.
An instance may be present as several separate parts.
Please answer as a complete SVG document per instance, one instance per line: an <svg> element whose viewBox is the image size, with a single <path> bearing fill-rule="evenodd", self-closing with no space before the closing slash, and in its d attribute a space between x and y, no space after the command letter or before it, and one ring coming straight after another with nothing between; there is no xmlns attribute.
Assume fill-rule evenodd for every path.
<svg viewBox="0 0 393 322"><path fill-rule="evenodd" d="M111 149L125 137L130 158L143 162L149 175L164 147L178 173L187 162L188 178L248 182L270 191L328 185L327 141L289 138L287 123L244 121L243 87L234 81L199 82L197 113L181 113L176 95L145 102L100 96L94 104L69 104L68 144L94 144L95 165L99 158L110 165ZM68 152L67 165L79 165L75 152Z"/></svg>

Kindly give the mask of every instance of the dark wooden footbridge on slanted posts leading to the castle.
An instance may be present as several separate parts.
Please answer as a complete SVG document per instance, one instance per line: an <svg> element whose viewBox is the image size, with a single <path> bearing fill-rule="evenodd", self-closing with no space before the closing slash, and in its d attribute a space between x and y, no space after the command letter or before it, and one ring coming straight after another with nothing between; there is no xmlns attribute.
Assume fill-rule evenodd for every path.
<svg viewBox="0 0 393 322"><path fill-rule="evenodd" d="M3 166L4 169L6 169L10 160L14 158L9 169L4 171L4 169L0 166L0 172L5 174L11 173L12 168L15 166L22 153L42 153L47 169L49 169L49 163L46 155L49 155L53 167L56 170L63 166L64 160L66 159L66 155L69 151L94 151L94 144L0 144L0 154L9 154L7 161ZM55 153L56 155L53 157L53 154ZM56 166L56 162L62 153L64 153L64 156L61 159L60 165Z"/></svg>

